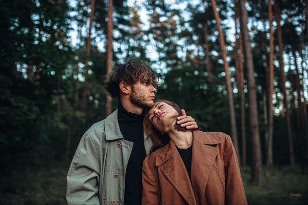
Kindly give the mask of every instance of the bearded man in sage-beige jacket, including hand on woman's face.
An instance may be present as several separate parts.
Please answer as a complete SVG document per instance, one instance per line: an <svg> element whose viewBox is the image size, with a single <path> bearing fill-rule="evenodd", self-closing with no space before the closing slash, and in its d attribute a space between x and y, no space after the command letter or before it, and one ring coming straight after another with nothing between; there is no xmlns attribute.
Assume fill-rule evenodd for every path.
<svg viewBox="0 0 308 205"><path fill-rule="evenodd" d="M105 88L118 97L118 109L83 135L67 174L68 204L141 204L142 163L152 146L143 129L145 109L153 106L156 73L129 59L107 75ZM178 118L197 128L190 116Z"/></svg>

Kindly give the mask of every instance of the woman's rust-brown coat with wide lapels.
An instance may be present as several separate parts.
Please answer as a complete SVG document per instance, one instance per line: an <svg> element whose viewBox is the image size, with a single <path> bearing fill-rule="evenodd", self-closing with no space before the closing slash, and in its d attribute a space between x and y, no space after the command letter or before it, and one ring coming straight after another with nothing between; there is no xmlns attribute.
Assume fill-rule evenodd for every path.
<svg viewBox="0 0 308 205"><path fill-rule="evenodd" d="M191 181L170 140L143 162L142 204L247 204L237 156L221 132L193 132Z"/></svg>

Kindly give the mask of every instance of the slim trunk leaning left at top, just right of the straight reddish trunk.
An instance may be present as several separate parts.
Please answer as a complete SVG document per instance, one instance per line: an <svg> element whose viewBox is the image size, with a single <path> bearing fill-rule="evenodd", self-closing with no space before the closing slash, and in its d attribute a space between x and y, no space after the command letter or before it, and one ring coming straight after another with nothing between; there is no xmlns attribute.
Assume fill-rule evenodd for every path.
<svg viewBox="0 0 308 205"><path fill-rule="evenodd" d="M285 88L285 75L284 75L284 65L283 65L283 45L282 45L282 33L281 33L281 26L280 26L280 5L279 1L275 0L275 17L277 21L277 36L278 36L278 45L279 45L279 66L280 66L280 78L281 78L281 87L283 92L283 105L285 110L285 118L286 118L286 128L287 128L287 136L288 136L288 143L289 143L289 153L290 153L290 165L295 165L294 159L294 150L293 150L293 139L292 139L292 131L291 131L291 124L290 124L290 114L288 109L287 103L287 94Z"/></svg>

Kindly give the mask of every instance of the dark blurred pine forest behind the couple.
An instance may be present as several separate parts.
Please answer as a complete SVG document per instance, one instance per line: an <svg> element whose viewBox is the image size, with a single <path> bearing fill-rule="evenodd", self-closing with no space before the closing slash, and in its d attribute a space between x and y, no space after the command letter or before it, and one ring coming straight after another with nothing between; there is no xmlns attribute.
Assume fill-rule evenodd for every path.
<svg viewBox="0 0 308 205"><path fill-rule="evenodd" d="M204 131L232 137L249 204L308 202L307 0L1 0L0 203L66 204L83 133L139 57Z"/></svg>

